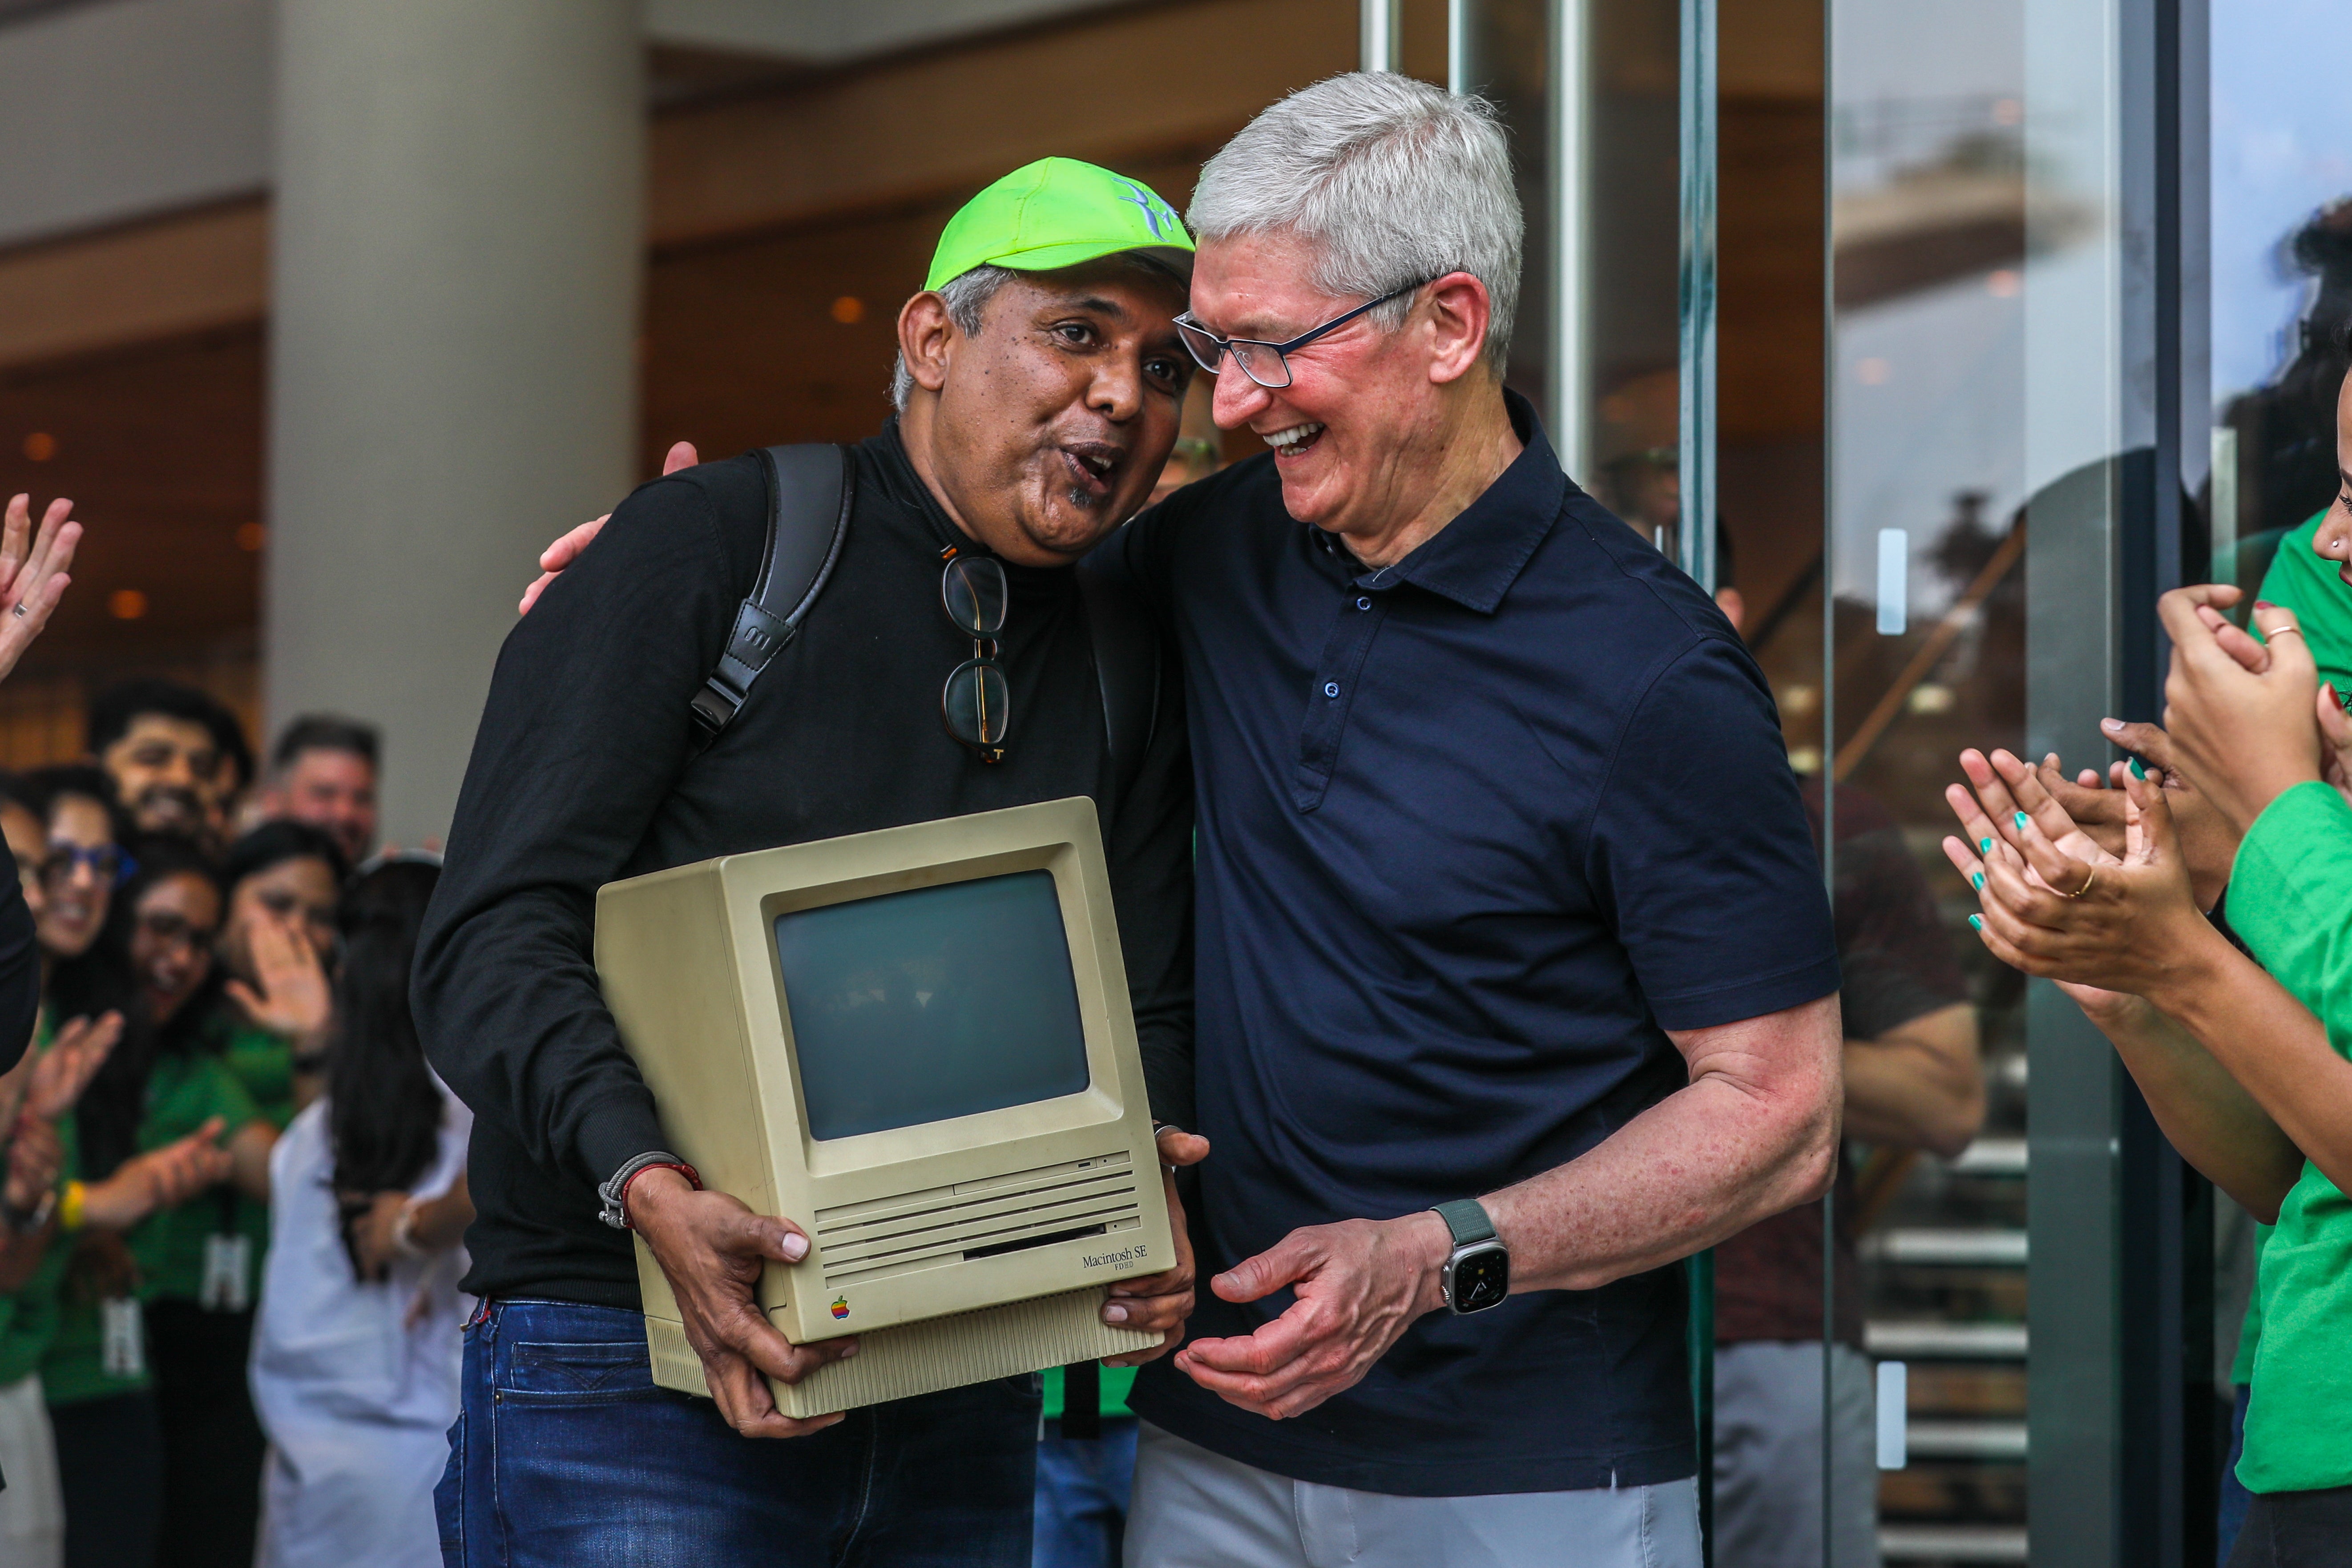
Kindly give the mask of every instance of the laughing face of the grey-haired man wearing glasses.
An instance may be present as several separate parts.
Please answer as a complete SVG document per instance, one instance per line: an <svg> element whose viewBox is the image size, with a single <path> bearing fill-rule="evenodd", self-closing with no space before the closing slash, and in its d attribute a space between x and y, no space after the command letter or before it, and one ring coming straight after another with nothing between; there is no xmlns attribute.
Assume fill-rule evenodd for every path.
<svg viewBox="0 0 2352 1568"><path fill-rule="evenodd" d="M1315 252L1287 233L1204 240L1192 263L1192 317L1223 339L1287 343L1362 299L1317 289ZM1486 336L1486 287L1449 273L1414 294L1402 327L1359 315L1287 357L1291 383L1270 390L1228 355L1216 376L1216 423L1249 428L1275 449L1282 505L1350 541L1378 538L1418 512L1444 465L1465 386ZM1486 393L1494 395L1491 378Z"/></svg>

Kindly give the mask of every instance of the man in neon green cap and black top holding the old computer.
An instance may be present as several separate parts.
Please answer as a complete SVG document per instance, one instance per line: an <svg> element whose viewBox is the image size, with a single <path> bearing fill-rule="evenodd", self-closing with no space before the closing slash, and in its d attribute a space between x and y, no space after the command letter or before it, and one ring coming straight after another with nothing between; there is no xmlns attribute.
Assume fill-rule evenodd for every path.
<svg viewBox="0 0 2352 1568"><path fill-rule="evenodd" d="M414 980L426 1051L475 1112L482 1307L437 1490L452 1566L1028 1561L1030 1378L776 1410L767 1378L854 1342L795 1347L755 1309L764 1262L809 1239L666 1152L597 992L595 891L1087 795L1155 1112L1190 1126L1169 1070L1192 1027L1176 661L1143 663L1157 719L1115 755L1110 661L1073 571L1176 440L1190 256L1167 202L1094 165L1049 158L974 197L898 313L896 414L851 451L830 574L717 724L708 689L767 548L762 454L637 489L506 639ZM713 1401L652 1382L628 1229L675 1288ZM1120 1286L1105 1319L1174 1342L1190 1302L1183 1258ZM779 1436L800 1441L755 1441Z"/></svg>

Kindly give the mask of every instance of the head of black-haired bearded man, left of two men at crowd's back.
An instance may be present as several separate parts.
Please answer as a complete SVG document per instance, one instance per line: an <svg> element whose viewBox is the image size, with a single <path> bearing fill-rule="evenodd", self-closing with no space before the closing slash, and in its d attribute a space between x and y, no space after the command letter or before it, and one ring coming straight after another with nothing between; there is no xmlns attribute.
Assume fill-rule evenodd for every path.
<svg viewBox="0 0 2352 1568"><path fill-rule="evenodd" d="M245 726L219 698L167 679L129 679L89 703L89 755L115 780L139 832L172 832L212 851L252 783Z"/></svg>

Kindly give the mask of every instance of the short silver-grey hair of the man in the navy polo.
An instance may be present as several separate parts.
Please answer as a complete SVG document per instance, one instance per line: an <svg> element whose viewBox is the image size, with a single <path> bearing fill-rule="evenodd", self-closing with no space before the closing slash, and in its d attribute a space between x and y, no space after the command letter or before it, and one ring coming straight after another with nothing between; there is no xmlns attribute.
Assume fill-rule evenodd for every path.
<svg viewBox="0 0 2352 1568"><path fill-rule="evenodd" d="M1200 172L1192 235L1291 233L1315 249L1310 282L1378 299L1446 273L1486 284L1484 357L1510 357L1524 219L1494 103L1390 71L1301 87L1242 127ZM1397 327L1411 299L1371 313Z"/></svg>

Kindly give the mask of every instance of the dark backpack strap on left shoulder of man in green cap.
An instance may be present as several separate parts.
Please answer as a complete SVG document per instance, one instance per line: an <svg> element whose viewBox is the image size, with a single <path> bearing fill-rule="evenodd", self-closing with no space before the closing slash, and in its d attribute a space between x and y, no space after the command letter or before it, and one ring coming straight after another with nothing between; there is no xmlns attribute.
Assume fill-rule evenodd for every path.
<svg viewBox="0 0 2352 1568"><path fill-rule="evenodd" d="M767 661L793 639L842 557L856 505L856 456L847 447L769 447L767 550L750 597L736 611L720 668L694 693L694 750L720 738L750 698Z"/></svg>

